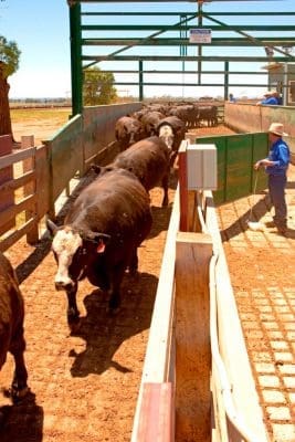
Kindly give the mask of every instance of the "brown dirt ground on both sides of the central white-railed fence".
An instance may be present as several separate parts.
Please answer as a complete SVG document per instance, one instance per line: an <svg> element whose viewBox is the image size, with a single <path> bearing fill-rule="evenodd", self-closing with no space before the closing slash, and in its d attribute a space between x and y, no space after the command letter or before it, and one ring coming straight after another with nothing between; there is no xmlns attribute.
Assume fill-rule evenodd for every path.
<svg viewBox="0 0 295 442"><path fill-rule="evenodd" d="M25 127L18 125L13 130L17 139L20 135L31 135L28 124ZM33 130L36 141L52 134L48 126L45 133L44 128L38 126ZM224 127L197 130L198 136L231 133ZM295 178L295 175L292 177ZM19 406L11 406L9 399L0 397L1 442L130 440L176 183L173 177L168 208L160 207L161 190L156 188L151 191L152 231L139 250L138 278L129 280L126 276L124 281L119 314L108 317L107 298L87 282L82 282L78 288L82 320L76 334L71 334L66 324L65 295L54 291L55 263L50 252L50 242L43 240L36 246L30 246L20 241L9 249L7 255L17 269L25 298L25 360L33 394ZM295 196L291 198L295 199ZM270 217L264 200L265 194L260 194L255 201L256 217ZM295 206L295 200L293 202ZM272 343L285 343L280 338L281 334L291 338L288 350L294 355L294 328L286 329L284 318L280 316L293 314L288 323L294 322L294 239L292 232L286 239L278 238L272 230L249 232L243 214L252 203L253 200L249 198L234 206L224 204L219 208L220 229L270 440L294 442L295 436L287 439L288 435L283 433L280 436L277 430L282 423L289 427L292 417L286 413L282 420L274 410L282 407L292 410L295 386L285 383L284 377L287 375L282 371L282 367L291 366L292 361L276 357L275 348L271 351ZM285 304L278 305L288 307L288 311L284 313L275 309L274 293L277 299L287 299ZM271 315L267 308L263 311L262 307L275 311L275 319L272 320L275 323L274 328L267 328L270 318L261 317ZM256 322L254 329L251 328L253 322ZM270 330L277 333L276 338L274 334L270 335ZM280 351L282 349L278 348ZM268 359L265 354L270 356ZM262 371L262 365L266 371ZM280 402L270 404L264 394L261 377L267 375L270 367L273 367L278 378L280 388L275 390L282 392L283 406ZM0 387L9 387L11 373L12 361L9 357L1 371ZM267 391L273 391L270 386L266 386Z"/></svg>

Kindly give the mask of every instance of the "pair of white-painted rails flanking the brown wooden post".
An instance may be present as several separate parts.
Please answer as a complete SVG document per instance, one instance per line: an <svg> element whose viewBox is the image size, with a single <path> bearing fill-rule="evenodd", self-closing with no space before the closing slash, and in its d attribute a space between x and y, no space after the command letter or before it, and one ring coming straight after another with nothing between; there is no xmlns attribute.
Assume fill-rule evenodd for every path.
<svg viewBox="0 0 295 442"><path fill-rule="evenodd" d="M179 194L179 189L177 189L155 301L131 442L181 442L177 431L178 420L175 419L177 415L175 403L177 388L175 260L180 225ZM213 250L209 270L210 347L212 354L210 381L213 419L211 434L208 438L212 442L267 442L262 410L259 406L223 252L212 193L211 191L201 192L193 200L196 201L194 212L199 218L197 227L202 231L204 230L207 236L208 233L211 235ZM190 305L188 305L189 308ZM196 372L196 376L198 376L198 372ZM158 393L154 394L155 401L152 402L151 396L148 398L148 412L146 394L143 394L147 390L147 385L158 386ZM167 392L167 386L170 389L169 394L161 393L161 391ZM144 397L145 400L143 401ZM143 403L145 403L145 407L143 407ZM154 431L150 432L152 428ZM145 429L149 429L149 433L145 432ZM154 439L150 439L149 434L152 434ZM157 434L156 439L155 434ZM192 440L202 442L196 438Z"/></svg>

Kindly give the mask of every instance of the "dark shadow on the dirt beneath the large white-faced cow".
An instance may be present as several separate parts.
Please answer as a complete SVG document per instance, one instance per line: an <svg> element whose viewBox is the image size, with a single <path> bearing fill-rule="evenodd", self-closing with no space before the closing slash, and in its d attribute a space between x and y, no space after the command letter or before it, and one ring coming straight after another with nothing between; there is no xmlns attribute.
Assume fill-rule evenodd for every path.
<svg viewBox="0 0 295 442"><path fill-rule="evenodd" d="M99 290L84 298L86 315L81 317L72 336L84 339L86 348L80 354L70 351L70 357L74 358L73 377L101 375L109 367L120 372L133 371L133 366L122 366L113 357L125 340L150 327L157 284L158 278L148 273L139 273L136 277L126 275L122 307L116 315L107 312L108 299Z"/></svg>

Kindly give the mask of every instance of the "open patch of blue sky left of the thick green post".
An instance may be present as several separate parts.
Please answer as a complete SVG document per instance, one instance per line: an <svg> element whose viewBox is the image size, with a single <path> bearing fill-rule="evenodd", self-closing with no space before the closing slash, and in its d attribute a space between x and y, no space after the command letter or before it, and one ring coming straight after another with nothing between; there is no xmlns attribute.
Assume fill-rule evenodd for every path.
<svg viewBox="0 0 295 442"><path fill-rule="evenodd" d="M1 1L0 34L14 40L21 51L19 70L9 77L10 98L71 93L66 0Z"/></svg>

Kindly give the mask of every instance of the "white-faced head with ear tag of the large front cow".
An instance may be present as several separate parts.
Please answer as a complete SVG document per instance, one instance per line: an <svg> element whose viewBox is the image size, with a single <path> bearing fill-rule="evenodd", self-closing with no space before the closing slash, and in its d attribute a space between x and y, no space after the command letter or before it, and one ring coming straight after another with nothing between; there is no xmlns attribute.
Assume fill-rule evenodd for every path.
<svg viewBox="0 0 295 442"><path fill-rule="evenodd" d="M110 236L78 231L70 225L57 228L51 220L46 221L46 225L53 234L52 251L57 263L55 288L71 291L97 254L104 253Z"/></svg>

